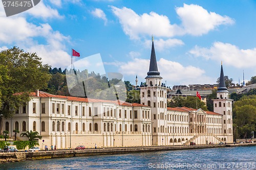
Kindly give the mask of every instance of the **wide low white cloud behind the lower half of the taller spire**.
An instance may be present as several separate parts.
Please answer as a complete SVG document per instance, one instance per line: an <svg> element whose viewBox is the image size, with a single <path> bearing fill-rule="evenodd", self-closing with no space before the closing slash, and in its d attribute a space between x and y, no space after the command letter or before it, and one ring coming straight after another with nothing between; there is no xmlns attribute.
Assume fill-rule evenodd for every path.
<svg viewBox="0 0 256 170"><path fill-rule="evenodd" d="M119 67L119 72L126 76L138 75L140 79L146 77L150 60L134 58ZM178 62L169 61L161 58L158 61L158 70L163 81L168 85L193 84L205 82L214 82L215 79L205 76L205 71L194 66L183 66ZM164 83L164 82L163 82Z"/></svg>

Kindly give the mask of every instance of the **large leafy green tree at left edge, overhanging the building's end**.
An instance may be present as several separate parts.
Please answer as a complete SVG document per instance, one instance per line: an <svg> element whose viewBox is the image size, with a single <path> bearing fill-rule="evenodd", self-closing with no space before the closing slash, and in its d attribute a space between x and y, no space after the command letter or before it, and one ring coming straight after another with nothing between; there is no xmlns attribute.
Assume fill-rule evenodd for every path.
<svg viewBox="0 0 256 170"><path fill-rule="evenodd" d="M47 86L49 66L42 65L35 53L26 53L18 47L0 52L0 134L3 117L12 117L15 110L30 100L30 93ZM15 94L15 95L14 95Z"/></svg>

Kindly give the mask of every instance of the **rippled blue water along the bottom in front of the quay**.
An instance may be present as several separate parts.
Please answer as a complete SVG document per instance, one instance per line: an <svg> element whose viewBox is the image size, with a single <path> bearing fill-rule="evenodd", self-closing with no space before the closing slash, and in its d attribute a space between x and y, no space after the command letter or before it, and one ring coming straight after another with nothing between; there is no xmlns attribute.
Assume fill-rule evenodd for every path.
<svg viewBox="0 0 256 170"><path fill-rule="evenodd" d="M44 159L0 169L256 169L256 146Z"/></svg>

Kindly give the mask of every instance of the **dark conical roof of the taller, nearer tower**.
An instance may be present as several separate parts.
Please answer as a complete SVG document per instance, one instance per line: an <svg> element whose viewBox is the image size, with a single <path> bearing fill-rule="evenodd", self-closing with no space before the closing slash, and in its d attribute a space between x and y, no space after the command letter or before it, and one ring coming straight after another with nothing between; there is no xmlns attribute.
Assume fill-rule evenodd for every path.
<svg viewBox="0 0 256 170"><path fill-rule="evenodd" d="M147 72L146 78L162 78L157 68L157 59L154 47L154 41L152 40L151 57L150 57L150 70Z"/></svg>

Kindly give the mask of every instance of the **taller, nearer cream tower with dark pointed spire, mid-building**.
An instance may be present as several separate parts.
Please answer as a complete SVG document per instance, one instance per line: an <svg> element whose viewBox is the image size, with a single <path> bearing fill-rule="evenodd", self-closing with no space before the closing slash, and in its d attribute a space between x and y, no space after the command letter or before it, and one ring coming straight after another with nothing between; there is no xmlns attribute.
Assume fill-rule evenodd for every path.
<svg viewBox="0 0 256 170"><path fill-rule="evenodd" d="M167 88L161 83L161 80L162 77L160 76L157 67L154 37L152 36L150 69L145 77L145 85L140 87L141 104L151 107L152 145L168 144L168 136L166 132ZM144 113L142 112L142 114Z"/></svg>

